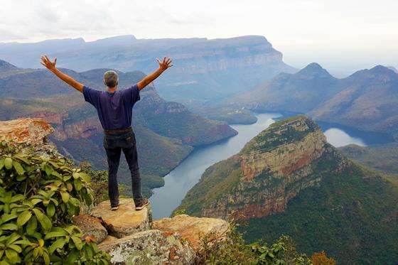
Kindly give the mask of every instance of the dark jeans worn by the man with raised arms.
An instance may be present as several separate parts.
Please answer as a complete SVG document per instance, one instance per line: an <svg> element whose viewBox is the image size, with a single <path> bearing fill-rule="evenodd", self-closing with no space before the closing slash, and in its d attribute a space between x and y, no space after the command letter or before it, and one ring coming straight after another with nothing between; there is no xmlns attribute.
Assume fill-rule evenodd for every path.
<svg viewBox="0 0 398 265"><path fill-rule="evenodd" d="M119 188L117 186L117 169L119 168L120 154L124 153L131 172L131 185L134 202L142 200L141 176L139 175L136 138L133 131L123 134L104 136L104 148L108 160L108 194L111 206L119 205Z"/></svg>

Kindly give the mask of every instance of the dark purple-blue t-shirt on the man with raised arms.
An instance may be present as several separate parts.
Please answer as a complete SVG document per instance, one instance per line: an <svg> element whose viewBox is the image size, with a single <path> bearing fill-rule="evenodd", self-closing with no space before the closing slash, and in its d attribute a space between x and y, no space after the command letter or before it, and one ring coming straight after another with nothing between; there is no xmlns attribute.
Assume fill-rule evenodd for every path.
<svg viewBox="0 0 398 265"><path fill-rule="evenodd" d="M83 95L85 101L97 109L103 129L125 129L131 126L132 108L140 99L137 84L113 93L84 86Z"/></svg>

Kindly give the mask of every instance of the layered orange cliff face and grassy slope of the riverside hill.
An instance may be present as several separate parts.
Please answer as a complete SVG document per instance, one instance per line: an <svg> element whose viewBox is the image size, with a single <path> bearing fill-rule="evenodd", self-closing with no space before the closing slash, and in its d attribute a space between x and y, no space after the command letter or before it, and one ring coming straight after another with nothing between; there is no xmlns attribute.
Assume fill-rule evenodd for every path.
<svg viewBox="0 0 398 265"><path fill-rule="evenodd" d="M348 164L311 119L278 121L240 153L208 168L181 208L222 219L272 215L283 212L300 190L318 185L322 171L338 172Z"/></svg>

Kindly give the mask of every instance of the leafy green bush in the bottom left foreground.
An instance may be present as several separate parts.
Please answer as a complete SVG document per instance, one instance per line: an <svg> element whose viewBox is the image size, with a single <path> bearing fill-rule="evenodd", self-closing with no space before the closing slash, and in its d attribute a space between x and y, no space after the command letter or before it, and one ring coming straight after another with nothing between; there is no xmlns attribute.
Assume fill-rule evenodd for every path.
<svg viewBox="0 0 398 265"><path fill-rule="evenodd" d="M71 217L92 203L90 176L64 158L0 145L0 262L107 264L109 255L82 239Z"/></svg>

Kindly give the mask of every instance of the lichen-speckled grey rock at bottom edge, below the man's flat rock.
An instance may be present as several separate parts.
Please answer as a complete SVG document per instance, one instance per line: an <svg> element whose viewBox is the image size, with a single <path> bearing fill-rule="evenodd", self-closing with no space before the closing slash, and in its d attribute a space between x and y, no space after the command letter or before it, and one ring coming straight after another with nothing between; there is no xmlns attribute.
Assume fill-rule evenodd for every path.
<svg viewBox="0 0 398 265"><path fill-rule="evenodd" d="M178 234L151 229L121 239L109 238L99 249L112 256L111 264L194 264L195 252Z"/></svg>

